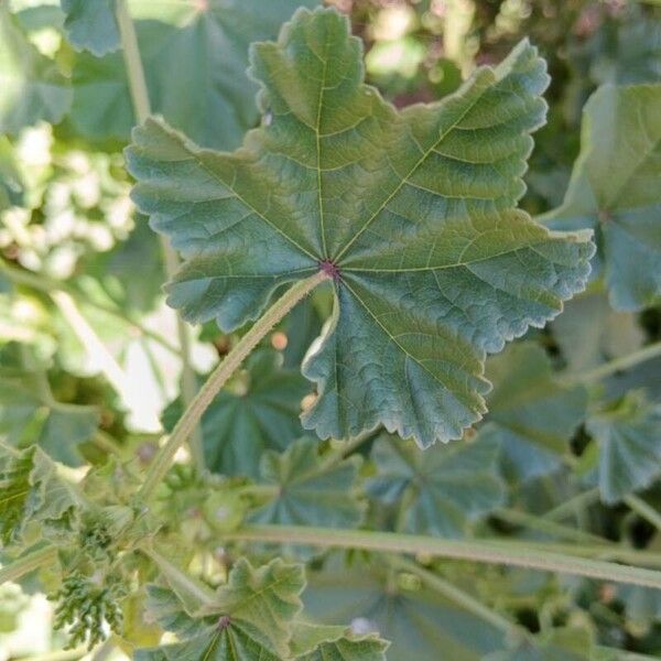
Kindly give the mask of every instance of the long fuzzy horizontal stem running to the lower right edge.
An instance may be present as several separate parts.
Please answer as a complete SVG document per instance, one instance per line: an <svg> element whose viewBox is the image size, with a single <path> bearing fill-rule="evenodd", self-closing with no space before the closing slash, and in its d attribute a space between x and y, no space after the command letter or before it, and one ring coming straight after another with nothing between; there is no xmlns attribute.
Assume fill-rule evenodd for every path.
<svg viewBox="0 0 661 661"><path fill-rule="evenodd" d="M661 588L661 572L535 550L520 542L502 544L485 540L445 540L394 532L302 525L247 525L227 533L225 539L392 553L426 553L438 557L505 564Z"/></svg>

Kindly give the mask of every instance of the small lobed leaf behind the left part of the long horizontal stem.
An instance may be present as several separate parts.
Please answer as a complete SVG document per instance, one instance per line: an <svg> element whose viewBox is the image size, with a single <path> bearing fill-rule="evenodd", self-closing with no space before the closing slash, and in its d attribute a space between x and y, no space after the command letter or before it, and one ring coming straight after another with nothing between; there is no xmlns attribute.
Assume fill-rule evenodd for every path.
<svg viewBox="0 0 661 661"><path fill-rule="evenodd" d="M277 487L278 494L251 513L251 521L329 528L358 525L364 513L356 494L359 457L328 466L317 448L316 440L301 438L282 454L264 454L261 478ZM302 552L300 546L285 545L285 549L290 553Z"/></svg>

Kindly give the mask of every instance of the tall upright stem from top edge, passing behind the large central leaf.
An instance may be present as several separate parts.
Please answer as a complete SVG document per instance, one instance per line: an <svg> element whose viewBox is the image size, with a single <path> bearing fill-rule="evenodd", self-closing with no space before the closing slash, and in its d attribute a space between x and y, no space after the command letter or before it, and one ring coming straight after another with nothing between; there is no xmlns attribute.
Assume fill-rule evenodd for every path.
<svg viewBox="0 0 661 661"><path fill-rule="evenodd" d="M151 115L151 105L149 102L149 89L147 87L147 78L144 77L144 68L140 57L140 47L136 35L136 25L129 13L127 0L117 1L116 15L119 34L121 36L124 65L129 78L129 88L131 90L136 119L138 120L138 123L143 123ZM167 278L172 279L174 273L178 270L178 257L165 237L160 236L160 241L165 262L165 272ZM191 339L188 336L188 328L178 314L176 315L176 332L182 358L182 401L184 407L188 407L195 398L197 383L195 371L191 362ZM191 430L189 445L193 462L197 472L204 473L204 444L202 431L197 429L197 426Z"/></svg>

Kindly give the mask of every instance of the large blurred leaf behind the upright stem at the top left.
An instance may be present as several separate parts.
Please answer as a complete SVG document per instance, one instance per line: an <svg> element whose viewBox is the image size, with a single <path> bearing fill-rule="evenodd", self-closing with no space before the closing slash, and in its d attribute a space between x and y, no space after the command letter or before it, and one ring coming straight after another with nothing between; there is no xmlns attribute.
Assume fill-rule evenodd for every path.
<svg viewBox="0 0 661 661"><path fill-rule="evenodd" d="M246 76L249 44L275 36L296 7L318 3L317 0L128 1L136 19L154 111L201 144L221 149L237 147L243 131L258 120L257 86ZM89 2L78 0L77 4ZM109 9L102 9L109 14ZM89 10L86 25L90 23L88 14ZM97 51L110 50L109 44L115 41L110 39L113 19L108 19L106 30L108 42L101 43L95 36ZM122 53L100 59L80 55L74 66L73 83L74 126L93 138L127 140L136 122Z"/></svg>

